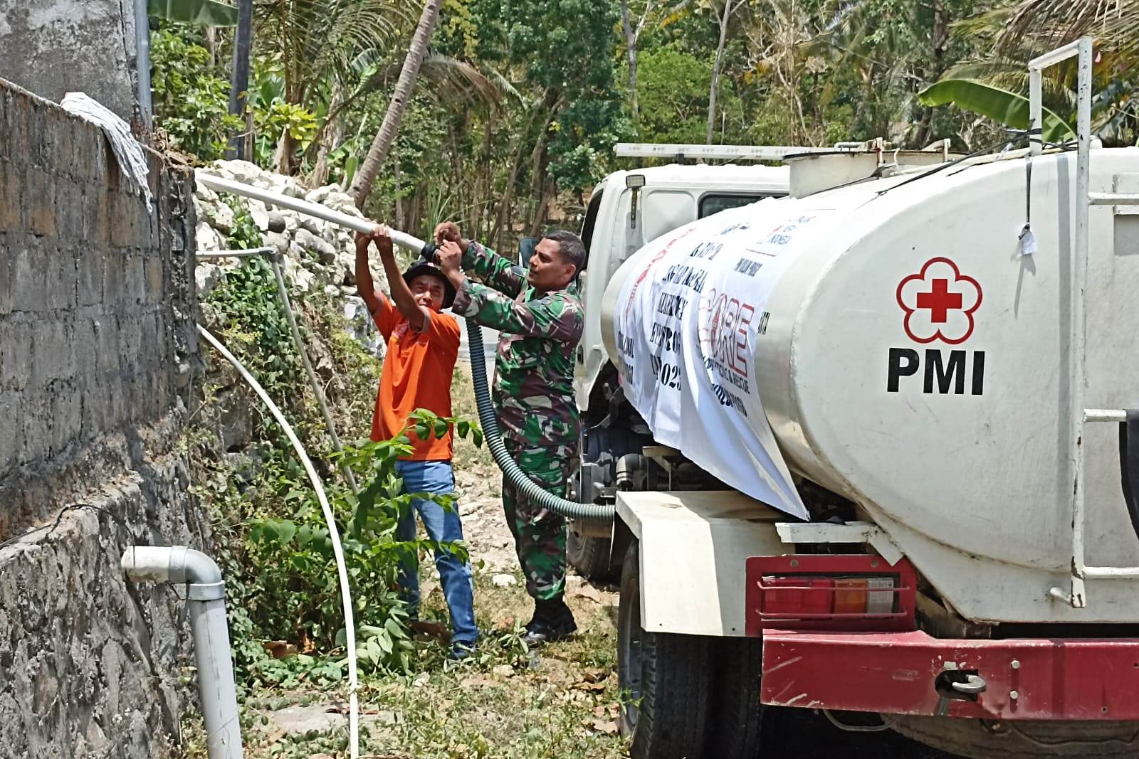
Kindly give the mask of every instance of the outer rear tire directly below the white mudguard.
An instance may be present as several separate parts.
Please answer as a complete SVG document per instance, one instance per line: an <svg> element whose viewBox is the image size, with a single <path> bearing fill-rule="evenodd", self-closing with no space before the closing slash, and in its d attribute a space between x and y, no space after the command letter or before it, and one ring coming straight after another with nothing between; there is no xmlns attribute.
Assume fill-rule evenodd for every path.
<svg viewBox="0 0 1139 759"><path fill-rule="evenodd" d="M633 541L625 553L617 612L621 732L631 737L632 759L696 759L706 756L708 641L641 627L639 559Z"/></svg>

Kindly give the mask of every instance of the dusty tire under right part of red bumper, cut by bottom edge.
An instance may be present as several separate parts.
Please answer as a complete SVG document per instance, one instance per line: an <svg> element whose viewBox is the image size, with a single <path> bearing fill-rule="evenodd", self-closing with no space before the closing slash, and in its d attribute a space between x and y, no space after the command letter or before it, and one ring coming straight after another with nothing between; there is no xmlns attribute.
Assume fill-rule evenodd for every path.
<svg viewBox="0 0 1139 759"><path fill-rule="evenodd" d="M882 715L891 729L972 759L1134 759L1139 723L986 720Z"/></svg>

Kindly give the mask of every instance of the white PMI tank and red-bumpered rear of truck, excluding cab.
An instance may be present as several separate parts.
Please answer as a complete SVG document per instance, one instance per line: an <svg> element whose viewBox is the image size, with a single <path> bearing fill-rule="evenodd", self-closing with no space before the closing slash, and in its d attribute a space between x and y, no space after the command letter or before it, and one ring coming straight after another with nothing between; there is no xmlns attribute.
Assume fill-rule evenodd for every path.
<svg viewBox="0 0 1139 759"><path fill-rule="evenodd" d="M1089 41L1033 80L1075 52L1077 149L879 166L607 282L637 759L779 757L786 708L1139 756L1139 149L1092 149Z"/></svg>

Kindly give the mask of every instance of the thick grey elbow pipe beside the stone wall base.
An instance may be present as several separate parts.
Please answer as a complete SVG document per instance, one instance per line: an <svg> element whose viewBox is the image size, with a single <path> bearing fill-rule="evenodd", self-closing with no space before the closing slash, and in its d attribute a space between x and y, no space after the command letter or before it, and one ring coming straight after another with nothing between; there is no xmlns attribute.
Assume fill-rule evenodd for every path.
<svg viewBox="0 0 1139 759"><path fill-rule="evenodd" d="M134 545L123 552L122 568L134 581L186 585L206 750L210 759L241 759L241 729L226 622L226 583L218 564L185 545Z"/></svg>

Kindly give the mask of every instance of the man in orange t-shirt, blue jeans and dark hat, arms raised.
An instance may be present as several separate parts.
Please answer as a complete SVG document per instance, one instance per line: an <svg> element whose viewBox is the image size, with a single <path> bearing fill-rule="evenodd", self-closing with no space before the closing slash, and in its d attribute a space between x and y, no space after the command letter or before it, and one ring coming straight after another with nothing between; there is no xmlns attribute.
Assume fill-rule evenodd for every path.
<svg viewBox="0 0 1139 759"><path fill-rule="evenodd" d="M368 246L376 242L379 259L392 290L388 299L376 289L368 269ZM459 324L454 316L441 313L454 300L454 287L437 266L427 262L412 264L400 273L392 250L387 226L379 225L370 234L357 233L357 289L372 321L387 340L387 355L380 370L379 393L371 421L371 439L387 440L404 430L416 409L451 415L451 378L459 356ZM394 302L394 303L393 303ZM454 492L451 469L451 430L436 438L429 432L420 439L409 431L412 452L396 462L404 493L449 495ZM427 535L436 544L462 539L458 506L443 509L433 501L416 498L412 509L400 514L395 529L398 541L416 537L416 512L423 519ZM459 560L445 547L436 547L443 595L451 612L451 655L462 658L475 645L474 586L469 562ZM419 607L418 555L401 563L400 588L412 619Z"/></svg>

